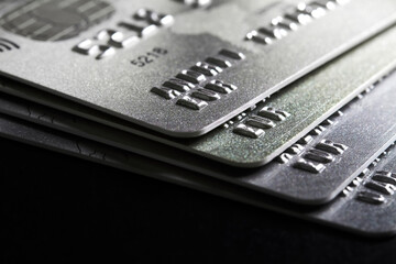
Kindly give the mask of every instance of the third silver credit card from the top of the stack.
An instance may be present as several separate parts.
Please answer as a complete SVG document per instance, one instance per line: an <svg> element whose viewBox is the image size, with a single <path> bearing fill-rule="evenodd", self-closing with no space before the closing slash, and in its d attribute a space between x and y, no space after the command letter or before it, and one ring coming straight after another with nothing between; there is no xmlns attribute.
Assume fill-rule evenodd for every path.
<svg viewBox="0 0 396 264"><path fill-rule="evenodd" d="M302 136L276 161L235 168L119 130L0 97L0 112L88 138L298 204L320 205L339 194L396 140L396 74L369 88Z"/></svg>

